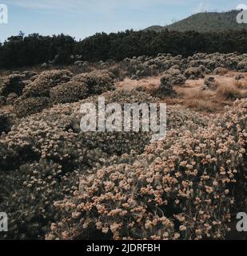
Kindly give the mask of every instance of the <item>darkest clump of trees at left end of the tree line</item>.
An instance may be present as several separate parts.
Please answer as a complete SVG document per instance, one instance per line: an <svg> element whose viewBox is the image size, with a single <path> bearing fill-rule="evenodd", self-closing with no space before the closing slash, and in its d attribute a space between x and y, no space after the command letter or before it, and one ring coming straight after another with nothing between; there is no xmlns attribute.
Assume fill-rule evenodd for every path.
<svg viewBox="0 0 247 256"><path fill-rule="evenodd" d="M0 67L34 66L54 59L57 54L61 56L57 64L67 64L75 43L74 38L64 34L13 36L0 46Z"/></svg>

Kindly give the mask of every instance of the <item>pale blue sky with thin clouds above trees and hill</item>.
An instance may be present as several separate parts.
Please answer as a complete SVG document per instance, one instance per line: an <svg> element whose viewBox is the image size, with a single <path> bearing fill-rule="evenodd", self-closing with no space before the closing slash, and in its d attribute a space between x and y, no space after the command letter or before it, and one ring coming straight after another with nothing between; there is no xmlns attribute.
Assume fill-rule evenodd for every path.
<svg viewBox="0 0 247 256"><path fill-rule="evenodd" d="M64 33L79 40L102 31L141 30L205 10L233 10L247 5L247 0L0 0L0 4L8 7L8 24L0 24L4 42L19 31Z"/></svg>

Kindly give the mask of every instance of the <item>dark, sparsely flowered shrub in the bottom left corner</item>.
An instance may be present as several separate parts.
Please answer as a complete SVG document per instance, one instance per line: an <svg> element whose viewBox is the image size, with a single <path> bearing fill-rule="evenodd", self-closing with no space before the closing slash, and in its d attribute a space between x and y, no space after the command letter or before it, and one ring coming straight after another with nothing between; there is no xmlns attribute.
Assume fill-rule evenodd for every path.
<svg viewBox="0 0 247 256"><path fill-rule="evenodd" d="M59 220L54 201L73 194L78 186L77 172L63 173L62 166L46 160L0 173L0 178L1 194L8 197L0 206L10 220L9 231L1 234L5 239L42 239Z"/></svg>

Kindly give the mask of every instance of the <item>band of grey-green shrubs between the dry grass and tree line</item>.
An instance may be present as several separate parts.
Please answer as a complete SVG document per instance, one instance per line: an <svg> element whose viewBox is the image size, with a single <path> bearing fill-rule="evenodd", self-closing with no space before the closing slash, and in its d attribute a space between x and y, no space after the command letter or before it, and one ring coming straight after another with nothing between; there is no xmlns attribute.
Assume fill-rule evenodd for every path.
<svg viewBox="0 0 247 256"><path fill-rule="evenodd" d="M181 71L180 76L186 78L204 78L205 74L226 74L228 70L240 70L245 72L245 54L193 54L188 58L181 55L157 54L157 57L141 56L125 58L120 62L119 67L122 72L118 72L119 77L135 75L137 78L154 76L166 73L173 66L177 66ZM116 65L114 65L116 68ZM182 78L182 77L181 77Z"/></svg>

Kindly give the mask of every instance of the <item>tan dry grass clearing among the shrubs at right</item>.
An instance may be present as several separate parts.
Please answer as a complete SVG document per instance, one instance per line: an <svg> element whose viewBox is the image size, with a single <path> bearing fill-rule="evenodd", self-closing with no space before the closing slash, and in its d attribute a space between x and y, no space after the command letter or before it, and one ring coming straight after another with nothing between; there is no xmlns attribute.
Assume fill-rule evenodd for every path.
<svg viewBox="0 0 247 256"><path fill-rule="evenodd" d="M247 80L237 81L234 79L236 72L225 74L226 71L214 76L215 86L211 90L201 90L204 79L187 80L185 86L174 86L176 94L163 95L157 90L160 77L144 78L139 81L125 78L124 81L118 82L116 87L118 90L133 90L143 86L149 94L161 98L167 105L181 105L200 112L215 113L224 110L226 105L231 106L235 99L247 97Z"/></svg>

